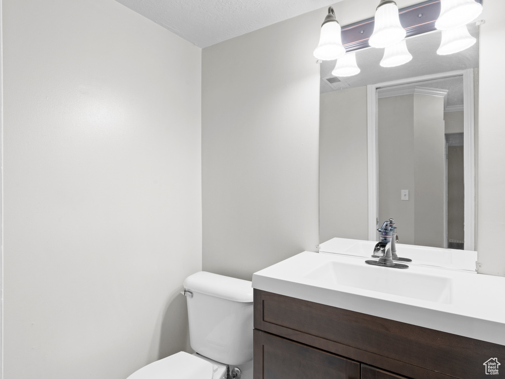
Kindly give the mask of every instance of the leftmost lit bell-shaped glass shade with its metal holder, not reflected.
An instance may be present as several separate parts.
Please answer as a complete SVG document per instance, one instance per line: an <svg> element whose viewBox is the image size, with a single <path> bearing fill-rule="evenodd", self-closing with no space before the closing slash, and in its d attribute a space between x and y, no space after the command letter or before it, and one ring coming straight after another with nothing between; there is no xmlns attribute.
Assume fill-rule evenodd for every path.
<svg viewBox="0 0 505 379"><path fill-rule="evenodd" d="M340 24L335 18L333 8L328 8L328 14L321 25L321 37L319 44L314 50L314 57L323 61L332 61L343 57L345 54L340 36Z"/></svg>

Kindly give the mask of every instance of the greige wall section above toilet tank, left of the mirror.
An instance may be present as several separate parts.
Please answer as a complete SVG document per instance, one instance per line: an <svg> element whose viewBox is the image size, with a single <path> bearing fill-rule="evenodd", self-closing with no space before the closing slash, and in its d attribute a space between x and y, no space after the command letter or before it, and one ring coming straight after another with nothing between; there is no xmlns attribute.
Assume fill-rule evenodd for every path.
<svg viewBox="0 0 505 379"><path fill-rule="evenodd" d="M317 250L319 17L203 50L203 267L253 272Z"/></svg>

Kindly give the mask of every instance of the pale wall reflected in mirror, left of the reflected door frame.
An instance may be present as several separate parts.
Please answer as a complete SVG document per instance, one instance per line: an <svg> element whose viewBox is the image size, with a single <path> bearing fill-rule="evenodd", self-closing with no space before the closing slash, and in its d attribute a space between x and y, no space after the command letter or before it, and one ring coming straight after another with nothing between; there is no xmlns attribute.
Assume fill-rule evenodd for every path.
<svg viewBox="0 0 505 379"><path fill-rule="evenodd" d="M319 238L368 240L367 87L321 94Z"/></svg>

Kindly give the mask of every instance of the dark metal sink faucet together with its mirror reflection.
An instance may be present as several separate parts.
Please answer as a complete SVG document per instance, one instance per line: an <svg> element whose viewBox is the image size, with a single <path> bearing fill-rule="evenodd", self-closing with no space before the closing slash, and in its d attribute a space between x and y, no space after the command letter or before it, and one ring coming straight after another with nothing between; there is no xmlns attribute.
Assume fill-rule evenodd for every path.
<svg viewBox="0 0 505 379"><path fill-rule="evenodd" d="M390 218L389 220L384 221L382 226L378 228L377 231L381 233L381 240L375 245L372 258L379 258L379 260L368 260L365 262L377 266L408 268L409 266L406 264L394 262L412 262L412 259L400 258L396 254L396 242L398 241L398 235L396 234L396 226L394 224L394 220Z"/></svg>

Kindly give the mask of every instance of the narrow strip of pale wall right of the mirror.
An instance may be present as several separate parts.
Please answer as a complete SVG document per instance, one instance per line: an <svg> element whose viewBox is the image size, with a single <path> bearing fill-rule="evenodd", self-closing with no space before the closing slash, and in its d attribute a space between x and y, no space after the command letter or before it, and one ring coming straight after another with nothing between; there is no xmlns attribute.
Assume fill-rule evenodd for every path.
<svg viewBox="0 0 505 379"><path fill-rule="evenodd" d="M480 272L505 276L505 2L484 2L480 18L478 246Z"/></svg>

